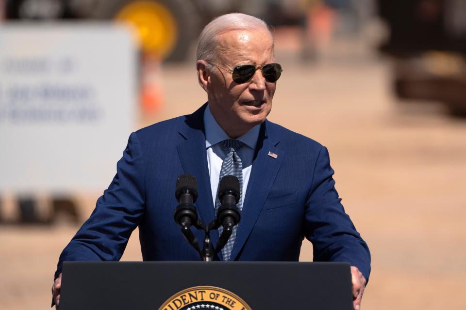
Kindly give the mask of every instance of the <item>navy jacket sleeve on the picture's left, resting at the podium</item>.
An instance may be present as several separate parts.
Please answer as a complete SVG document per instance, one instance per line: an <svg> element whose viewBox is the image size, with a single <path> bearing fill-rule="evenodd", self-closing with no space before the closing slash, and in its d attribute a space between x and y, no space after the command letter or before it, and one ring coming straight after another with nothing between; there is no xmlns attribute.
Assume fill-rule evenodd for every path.
<svg viewBox="0 0 466 310"><path fill-rule="evenodd" d="M55 279L64 261L117 261L144 213L144 163L136 133L132 133L116 175L88 220L60 255Z"/></svg>

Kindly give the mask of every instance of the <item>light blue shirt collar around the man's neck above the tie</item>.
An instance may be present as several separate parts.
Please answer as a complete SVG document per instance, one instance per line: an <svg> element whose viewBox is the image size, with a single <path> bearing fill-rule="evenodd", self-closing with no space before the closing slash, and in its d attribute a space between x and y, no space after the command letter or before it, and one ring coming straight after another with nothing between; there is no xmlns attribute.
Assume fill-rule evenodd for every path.
<svg viewBox="0 0 466 310"><path fill-rule="evenodd" d="M231 139L215 120L214 115L212 115L212 112L210 111L209 105L207 105L204 111L204 128L206 149L208 149L212 145L217 144L218 142ZM255 150L257 140L259 139L260 129L260 124L255 125L244 135L236 138L236 140L240 140L241 142L249 146L251 149Z"/></svg>

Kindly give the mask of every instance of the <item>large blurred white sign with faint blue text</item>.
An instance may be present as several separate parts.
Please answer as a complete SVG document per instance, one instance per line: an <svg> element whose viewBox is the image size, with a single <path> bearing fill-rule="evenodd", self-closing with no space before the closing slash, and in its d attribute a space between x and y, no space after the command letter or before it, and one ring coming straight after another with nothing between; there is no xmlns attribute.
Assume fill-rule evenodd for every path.
<svg viewBox="0 0 466 310"><path fill-rule="evenodd" d="M137 108L131 31L111 24L0 27L0 193L101 191Z"/></svg>

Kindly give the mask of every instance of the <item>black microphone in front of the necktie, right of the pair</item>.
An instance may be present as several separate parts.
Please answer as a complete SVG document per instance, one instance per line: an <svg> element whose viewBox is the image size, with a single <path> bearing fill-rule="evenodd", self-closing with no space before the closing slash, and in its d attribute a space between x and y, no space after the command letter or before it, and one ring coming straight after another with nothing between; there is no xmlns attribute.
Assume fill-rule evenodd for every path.
<svg viewBox="0 0 466 310"><path fill-rule="evenodd" d="M239 201L240 185L238 178L233 175L225 176L218 186L218 199L221 206L217 211L217 221L223 226L223 232L218 238L215 251L220 251L226 244L231 234L233 226L241 219L241 215L236 204Z"/></svg>

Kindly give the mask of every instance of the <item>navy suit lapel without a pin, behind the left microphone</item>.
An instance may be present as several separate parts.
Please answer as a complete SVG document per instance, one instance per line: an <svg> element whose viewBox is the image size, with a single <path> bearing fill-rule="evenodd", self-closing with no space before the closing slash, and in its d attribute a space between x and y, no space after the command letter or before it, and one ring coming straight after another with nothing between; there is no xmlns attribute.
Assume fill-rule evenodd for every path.
<svg viewBox="0 0 466 310"><path fill-rule="evenodd" d="M207 153L205 150L205 134L203 115L207 105L191 115L187 115L179 134L185 139L177 145L178 155L183 165L184 173L194 175L198 181L198 199L196 207L200 218L205 224L215 217L212 189L210 187L209 168L207 167ZM202 240L203 240L202 234ZM212 244L216 245L218 233L210 233ZM202 247L202 240L199 240Z"/></svg>

